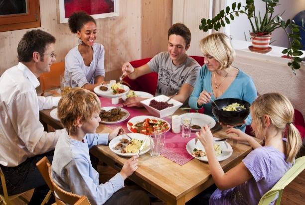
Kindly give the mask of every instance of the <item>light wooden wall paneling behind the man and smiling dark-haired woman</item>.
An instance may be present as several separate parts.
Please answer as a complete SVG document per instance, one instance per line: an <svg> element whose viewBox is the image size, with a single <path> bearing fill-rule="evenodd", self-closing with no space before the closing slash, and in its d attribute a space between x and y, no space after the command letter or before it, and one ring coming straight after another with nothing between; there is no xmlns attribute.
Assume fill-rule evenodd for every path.
<svg viewBox="0 0 305 205"><path fill-rule="evenodd" d="M56 38L56 62L64 61L68 51L77 46L76 34L67 23L57 21L57 0L40 0L41 27ZM119 16L96 19L97 43L105 47L106 80L118 79L126 61L153 56L166 50L167 30L171 25L171 0L120 0ZM147 10L150 9L150 12ZM160 14L159 11L162 11ZM157 15L158 14L158 15ZM0 32L0 74L18 63L17 45L30 29ZM144 40L151 39L143 43Z"/></svg>

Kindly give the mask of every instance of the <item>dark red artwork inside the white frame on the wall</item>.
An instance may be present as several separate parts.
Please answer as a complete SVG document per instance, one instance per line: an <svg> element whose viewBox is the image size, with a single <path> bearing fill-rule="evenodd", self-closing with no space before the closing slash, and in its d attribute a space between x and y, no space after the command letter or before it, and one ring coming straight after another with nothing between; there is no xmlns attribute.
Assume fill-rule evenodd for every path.
<svg viewBox="0 0 305 205"><path fill-rule="evenodd" d="M65 18L74 11L83 10L89 15L114 12L114 0L64 0Z"/></svg>

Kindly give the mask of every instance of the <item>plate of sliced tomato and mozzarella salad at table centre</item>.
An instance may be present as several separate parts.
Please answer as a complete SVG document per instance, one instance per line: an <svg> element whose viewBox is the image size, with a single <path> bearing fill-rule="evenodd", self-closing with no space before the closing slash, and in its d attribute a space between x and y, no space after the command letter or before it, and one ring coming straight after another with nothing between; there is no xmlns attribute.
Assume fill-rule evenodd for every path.
<svg viewBox="0 0 305 205"><path fill-rule="evenodd" d="M141 133L151 135L154 130L169 131L170 125L167 121L161 118L142 115L130 119L127 123L127 128L131 133Z"/></svg>

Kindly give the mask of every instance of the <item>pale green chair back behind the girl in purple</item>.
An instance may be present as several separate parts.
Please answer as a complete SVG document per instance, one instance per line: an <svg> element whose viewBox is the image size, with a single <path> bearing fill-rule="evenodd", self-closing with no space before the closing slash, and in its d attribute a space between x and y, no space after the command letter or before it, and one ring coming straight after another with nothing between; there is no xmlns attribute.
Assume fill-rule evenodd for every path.
<svg viewBox="0 0 305 205"><path fill-rule="evenodd" d="M296 159L296 163L290 168L284 176L261 198L259 205L269 205L276 195L279 193L279 198L276 205L280 205L284 188L291 183L305 169L305 156Z"/></svg>

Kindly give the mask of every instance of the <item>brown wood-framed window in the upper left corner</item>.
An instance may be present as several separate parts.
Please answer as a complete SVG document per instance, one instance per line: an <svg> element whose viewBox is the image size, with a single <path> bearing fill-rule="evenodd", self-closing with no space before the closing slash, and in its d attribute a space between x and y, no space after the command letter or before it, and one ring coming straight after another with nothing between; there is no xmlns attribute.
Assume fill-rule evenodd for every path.
<svg viewBox="0 0 305 205"><path fill-rule="evenodd" d="M0 0L0 32L40 27L39 0Z"/></svg>

